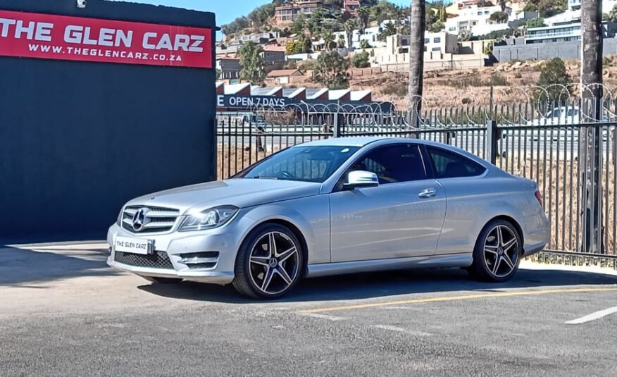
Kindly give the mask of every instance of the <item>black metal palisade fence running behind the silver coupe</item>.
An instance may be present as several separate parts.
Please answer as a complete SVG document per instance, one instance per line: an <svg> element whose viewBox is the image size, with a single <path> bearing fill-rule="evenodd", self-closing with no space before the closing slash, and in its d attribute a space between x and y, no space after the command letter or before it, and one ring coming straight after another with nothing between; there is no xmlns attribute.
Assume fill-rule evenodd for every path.
<svg viewBox="0 0 617 377"><path fill-rule="evenodd" d="M218 116L218 178L281 149L328 137L413 137L459 147L513 175L535 180L551 222L542 261L617 269L617 116L602 101L585 116L579 101L431 109L260 109ZM599 120L594 120L594 119Z"/></svg>

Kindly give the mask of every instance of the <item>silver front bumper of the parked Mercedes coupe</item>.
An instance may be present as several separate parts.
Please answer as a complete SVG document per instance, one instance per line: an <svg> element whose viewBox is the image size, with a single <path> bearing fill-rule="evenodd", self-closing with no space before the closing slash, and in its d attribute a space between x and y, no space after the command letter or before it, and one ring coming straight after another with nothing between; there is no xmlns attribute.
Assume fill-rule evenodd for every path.
<svg viewBox="0 0 617 377"><path fill-rule="evenodd" d="M235 259L240 242L234 237L235 234L238 233L228 228L227 230L216 229L201 232L135 235L114 224L107 233L107 243L111 249L107 264L120 271L135 273L139 276L181 278L199 283L225 285L234 279ZM170 264L155 268L150 264L127 264L116 260L116 251L113 247L117 236L153 240L156 252L166 253ZM205 268L186 262L187 255L197 254L199 257L199 253L212 252L218 255L216 259L208 258L212 263Z"/></svg>

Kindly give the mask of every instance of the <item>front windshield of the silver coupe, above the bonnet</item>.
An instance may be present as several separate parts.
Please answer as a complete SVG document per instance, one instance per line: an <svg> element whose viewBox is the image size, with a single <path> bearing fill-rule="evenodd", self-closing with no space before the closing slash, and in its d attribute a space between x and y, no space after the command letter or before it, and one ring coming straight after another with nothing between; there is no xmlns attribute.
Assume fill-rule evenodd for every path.
<svg viewBox="0 0 617 377"><path fill-rule="evenodd" d="M251 166L236 178L300 180L323 183L359 147L292 147Z"/></svg>

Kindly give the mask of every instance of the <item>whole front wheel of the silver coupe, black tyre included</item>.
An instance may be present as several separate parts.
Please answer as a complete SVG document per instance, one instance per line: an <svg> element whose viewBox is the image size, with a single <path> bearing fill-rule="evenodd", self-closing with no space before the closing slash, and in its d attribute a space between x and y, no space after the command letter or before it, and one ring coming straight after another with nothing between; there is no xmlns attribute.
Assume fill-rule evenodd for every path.
<svg viewBox="0 0 617 377"><path fill-rule="evenodd" d="M242 242L232 285L245 296L276 299L294 288L303 268L304 254L298 237L285 226L266 223Z"/></svg>

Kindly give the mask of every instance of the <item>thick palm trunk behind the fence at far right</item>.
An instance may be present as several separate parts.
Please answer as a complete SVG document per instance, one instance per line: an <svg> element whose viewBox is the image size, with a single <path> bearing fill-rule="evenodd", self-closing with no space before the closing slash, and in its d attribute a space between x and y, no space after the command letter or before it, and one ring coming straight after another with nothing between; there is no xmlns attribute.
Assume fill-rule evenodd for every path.
<svg viewBox="0 0 617 377"><path fill-rule="evenodd" d="M581 113L585 121L602 119L602 2L584 0L581 3ZM579 185L582 192L583 251L604 252L602 247L602 209L599 208L602 187L599 185L600 143L599 127L581 128L579 134ZM584 161L584 162L583 162Z"/></svg>

